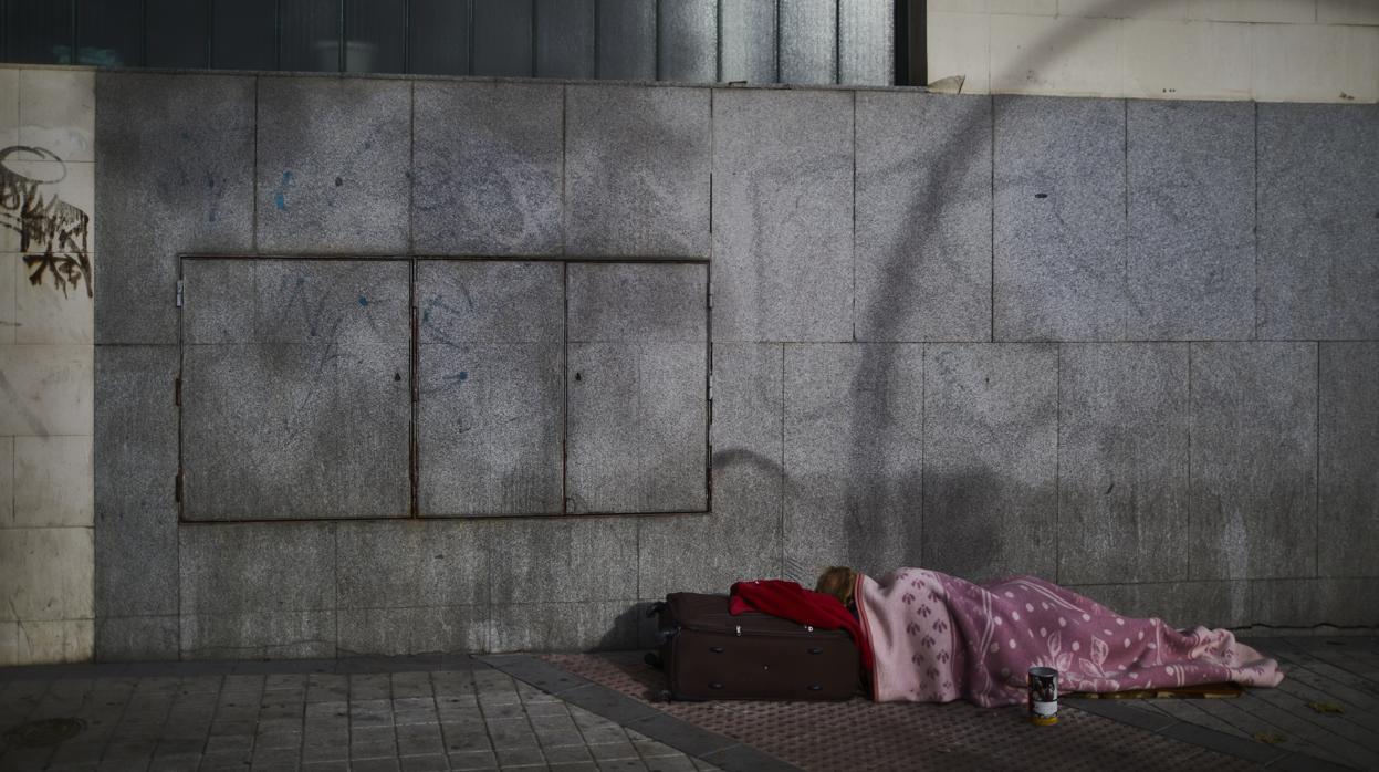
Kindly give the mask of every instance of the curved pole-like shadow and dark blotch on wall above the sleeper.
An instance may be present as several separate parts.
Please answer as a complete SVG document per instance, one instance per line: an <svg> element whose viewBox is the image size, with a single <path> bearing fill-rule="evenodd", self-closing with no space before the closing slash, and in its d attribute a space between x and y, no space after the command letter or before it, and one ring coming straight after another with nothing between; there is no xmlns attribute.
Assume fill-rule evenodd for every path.
<svg viewBox="0 0 1379 772"><path fill-rule="evenodd" d="M1107 0L1099 6L1096 10L1099 12L1089 11L1087 15L1121 17L1129 15L1132 10L1157 4L1165 3ZM1038 70L1059 52L1073 50L1091 32L1092 28L1087 25L1059 28L1059 32L1041 45L1030 47L1016 59L1011 65L1011 72ZM985 113L974 112L969 123L952 128L950 152L942 154L942 163L931 170L927 189L918 190L903 207L906 219L916 223L936 222L949 208L967 204L952 200L946 192L960 189L964 176L971 172L974 161L964 152L964 143L974 132L979 130L985 132L986 127L979 123L985 119L987 119ZM996 119L990 116L989 120ZM994 164L994 159L992 163ZM867 336L872 341L906 338L902 325L909 310L907 305L920 290L916 272L910 270L914 255L905 243L909 237L905 229L894 229L891 243L880 250L885 258L878 266L878 274L884 277L885 284L894 287L894 291L874 296L863 310L863 316L854 318L855 328L870 331ZM994 281L994 277L987 276L987 280ZM992 341L990 334L986 341ZM894 352L892 346L860 346L860 349L863 361L854 371L849 383L852 393L877 392L878 385L883 385L880 387L884 390L884 383L902 375L900 363L887 354ZM877 575L902 565L923 565L972 580L992 579L1012 569L1055 578L1056 535L1045 528L1045 525L1056 527L1054 518L1047 524L1041 524L1037 518L1030 522L1027 511L1003 511L1003 507L1009 510L1011 502L1026 496L1044 496L1047 505L1056 507L1056 482L1051 491L1036 491L1023 481L1004 480L990 467L938 474L931 469L925 476L918 463L900 474L888 474L888 466L894 471L895 463L885 445L877 441L876 429L887 426L881 423L887 416L878 415L878 409L883 412L885 409L884 394L877 394L873 400L852 401L847 458L838 459L844 474L832 478L792 477L789 470L781 469L775 460L749 451L714 452L716 470L742 465L781 474L787 502L792 498L809 502L815 494L830 491L827 496L819 499L821 505L841 505L843 511L833 511L834 518L843 517L841 534L811 535L819 545L812 549L805 546L803 554L792 554L792 545L786 539L787 554L783 568L787 579L812 585L815 572L829 562L851 564L863 572ZM921 507L923 521L929 525L927 535L921 534L921 517L906 517ZM821 517L809 520L819 522ZM942 538L935 538L939 529ZM1011 540L1020 543L1008 543ZM1022 550L1043 550L1047 554L1020 560L1018 567L1009 565L1011 556L1022 554ZM814 565L815 562L819 565ZM622 623L623 618L619 618L619 627ZM616 631L611 631L608 640L615 636Z"/></svg>

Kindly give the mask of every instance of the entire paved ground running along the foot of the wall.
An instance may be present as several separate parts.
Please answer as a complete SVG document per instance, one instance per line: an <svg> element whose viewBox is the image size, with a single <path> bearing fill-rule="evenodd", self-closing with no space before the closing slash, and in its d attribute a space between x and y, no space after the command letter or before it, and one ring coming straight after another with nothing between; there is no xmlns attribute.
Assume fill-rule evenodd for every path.
<svg viewBox="0 0 1379 772"><path fill-rule="evenodd" d="M667 703L640 652L0 670L0 769L1379 769L1379 638L1218 700Z"/></svg>

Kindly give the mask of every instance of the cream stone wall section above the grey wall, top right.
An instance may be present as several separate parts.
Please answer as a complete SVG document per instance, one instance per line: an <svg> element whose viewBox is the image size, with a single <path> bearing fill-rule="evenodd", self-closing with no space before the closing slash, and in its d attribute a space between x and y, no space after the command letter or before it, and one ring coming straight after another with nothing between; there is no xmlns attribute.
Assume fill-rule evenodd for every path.
<svg viewBox="0 0 1379 772"><path fill-rule="evenodd" d="M1379 101L1373 0L929 0L964 94Z"/></svg>

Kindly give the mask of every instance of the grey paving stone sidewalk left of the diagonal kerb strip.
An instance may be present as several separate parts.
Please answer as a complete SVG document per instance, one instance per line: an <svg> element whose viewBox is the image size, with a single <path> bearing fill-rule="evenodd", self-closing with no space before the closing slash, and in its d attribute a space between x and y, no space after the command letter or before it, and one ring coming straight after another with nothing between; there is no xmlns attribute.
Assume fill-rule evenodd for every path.
<svg viewBox="0 0 1379 772"><path fill-rule="evenodd" d="M717 769L469 658L10 669L0 732L6 772Z"/></svg>

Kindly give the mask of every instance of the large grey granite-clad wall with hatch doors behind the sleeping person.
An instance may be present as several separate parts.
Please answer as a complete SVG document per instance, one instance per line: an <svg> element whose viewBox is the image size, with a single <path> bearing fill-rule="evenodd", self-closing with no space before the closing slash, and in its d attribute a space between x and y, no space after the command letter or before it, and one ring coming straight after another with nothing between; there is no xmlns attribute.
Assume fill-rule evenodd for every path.
<svg viewBox="0 0 1379 772"><path fill-rule="evenodd" d="M1183 624L1379 624L1379 108L160 73L95 94L99 659L629 647L667 591L826 564L1033 572ZM196 280L189 255L250 259ZM371 364L400 350L360 290L382 280L312 278L320 256L426 258L379 295L399 312L407 285L422 317L432 291L465 298L469 338L418 334L415 452L465 447L454 416L524 419L476 420L434 500L545 514L365 511L394 495L386 443L364 454L383 482L343 503L285 473L230 516L189 509L197 454L272 485L356 463L372 445L331 438L405 414L418 375ZM560 266L564 291L416 283L495 256ZM575 310L570 272L629 259L706 266L703 332L652 334L695 329L694 281ZM632 361L586 371L581 345L672 361L702 334L712 412L672 376L651 383L676 398L575 379ZM427 412L426 357L466 346L491 349ZM193 383L232 354L237 379ZM229 419L190 429L212 397ZM626 494L593 509L673 499L658 481L685 467L638 465L698 409L709 513L576 516L546 492L572 482L543 448L583 436L629 470L590 478ZM538 473L513 494L487 482L499 458Z"/></svg>

